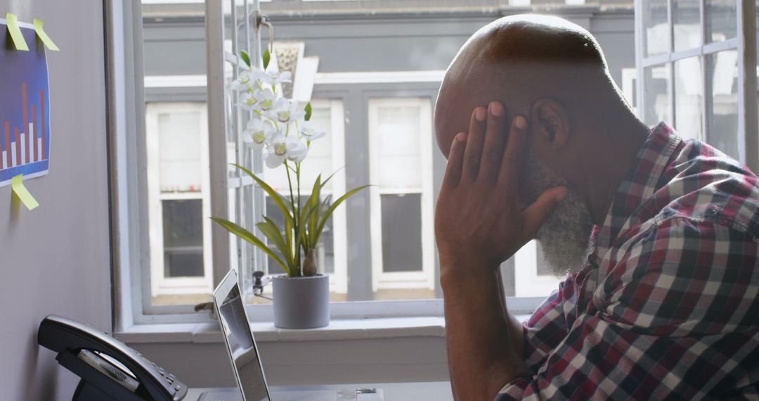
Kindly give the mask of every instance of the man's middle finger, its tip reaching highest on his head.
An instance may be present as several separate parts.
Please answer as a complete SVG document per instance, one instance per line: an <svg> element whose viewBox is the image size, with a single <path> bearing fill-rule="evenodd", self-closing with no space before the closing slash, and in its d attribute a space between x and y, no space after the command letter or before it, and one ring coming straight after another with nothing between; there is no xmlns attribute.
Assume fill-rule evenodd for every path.
<svg viewBox="0 0 759 401"><path fill-rule="evenodd" d="M491 102L487 108L487 128L478 179L487 180L487 184L498 181L505 143L505 110L500 102Z"/></svg>

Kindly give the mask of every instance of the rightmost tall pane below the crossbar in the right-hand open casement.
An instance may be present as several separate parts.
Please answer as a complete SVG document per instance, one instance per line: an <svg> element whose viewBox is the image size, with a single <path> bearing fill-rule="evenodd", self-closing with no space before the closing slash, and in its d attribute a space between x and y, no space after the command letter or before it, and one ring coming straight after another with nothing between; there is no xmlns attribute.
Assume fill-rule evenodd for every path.
<svg viewBox="0 0 759 401"><path fill-rule="evenodd" d="M707 140L709 144L740 159L738 150L738 51L726 50L706 56Z"/></svg>

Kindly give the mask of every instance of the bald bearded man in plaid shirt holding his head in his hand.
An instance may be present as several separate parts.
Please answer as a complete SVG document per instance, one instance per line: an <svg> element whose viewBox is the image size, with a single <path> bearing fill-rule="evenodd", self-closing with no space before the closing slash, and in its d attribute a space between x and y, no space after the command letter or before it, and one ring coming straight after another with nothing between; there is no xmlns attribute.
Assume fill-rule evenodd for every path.
<svg viewBox="0 0 759 401"><path fill-rule="evenodd" d="M590 33L483 27L446 72L435 130L456 399L759 398L757 177L638 120ZM566 279L522 324L499 264L532 238Z"/></svg>

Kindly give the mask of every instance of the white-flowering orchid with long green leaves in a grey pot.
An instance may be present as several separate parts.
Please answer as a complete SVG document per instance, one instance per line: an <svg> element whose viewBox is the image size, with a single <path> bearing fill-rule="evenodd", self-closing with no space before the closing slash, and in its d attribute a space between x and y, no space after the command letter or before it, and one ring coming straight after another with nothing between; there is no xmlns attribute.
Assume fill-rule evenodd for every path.
<svg viewBox="0 0 759 401"><path fill-rule="evenodd" d="M310 194L301 196L301 163L313 141L326 133L310 125L310 103L301 109L297 102L286 99L282 91L277 90L279 84L291 82L291 73L268 71L268 50L262 56L263 68L253 65L245 52L241 52L241 58L248 70L232 81L230 88L240 92L240 103L236 106L253 115L243 131L244 141L263 150L267 168L285 169L289 191L280 194L250 169L235 166L263 188L285 221L283 226L278 226L273 215L262 216L262 221L256 224L257 235L229 220L212 219L260 248L285 270L285 274L272 280L276 327L324 327L329 324L329 276L317 273L316 248L335 209L367 185L354 188L331 202L331 196L322 197L322 188L332 175L325 179L318 175L308 186Z"/></svg>

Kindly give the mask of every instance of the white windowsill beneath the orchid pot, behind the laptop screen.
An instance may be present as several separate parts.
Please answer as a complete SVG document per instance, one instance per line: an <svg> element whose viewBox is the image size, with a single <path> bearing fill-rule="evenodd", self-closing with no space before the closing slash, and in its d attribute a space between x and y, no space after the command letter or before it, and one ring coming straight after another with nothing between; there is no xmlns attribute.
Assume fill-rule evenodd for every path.
<svg viewBox="0 0 759 401"><path fill-rule="evenodd" d="M517 315L525 320L528 315ZM279 341L319 341L335 339L377 339L393 337L443 337L446 320L442 317L386 317L372 319L333 319L318 329L290 330L274 327L272 322L250 324L259 343ZM136 324L115 333L124 343L222 343L216 323Z"/></svg>

